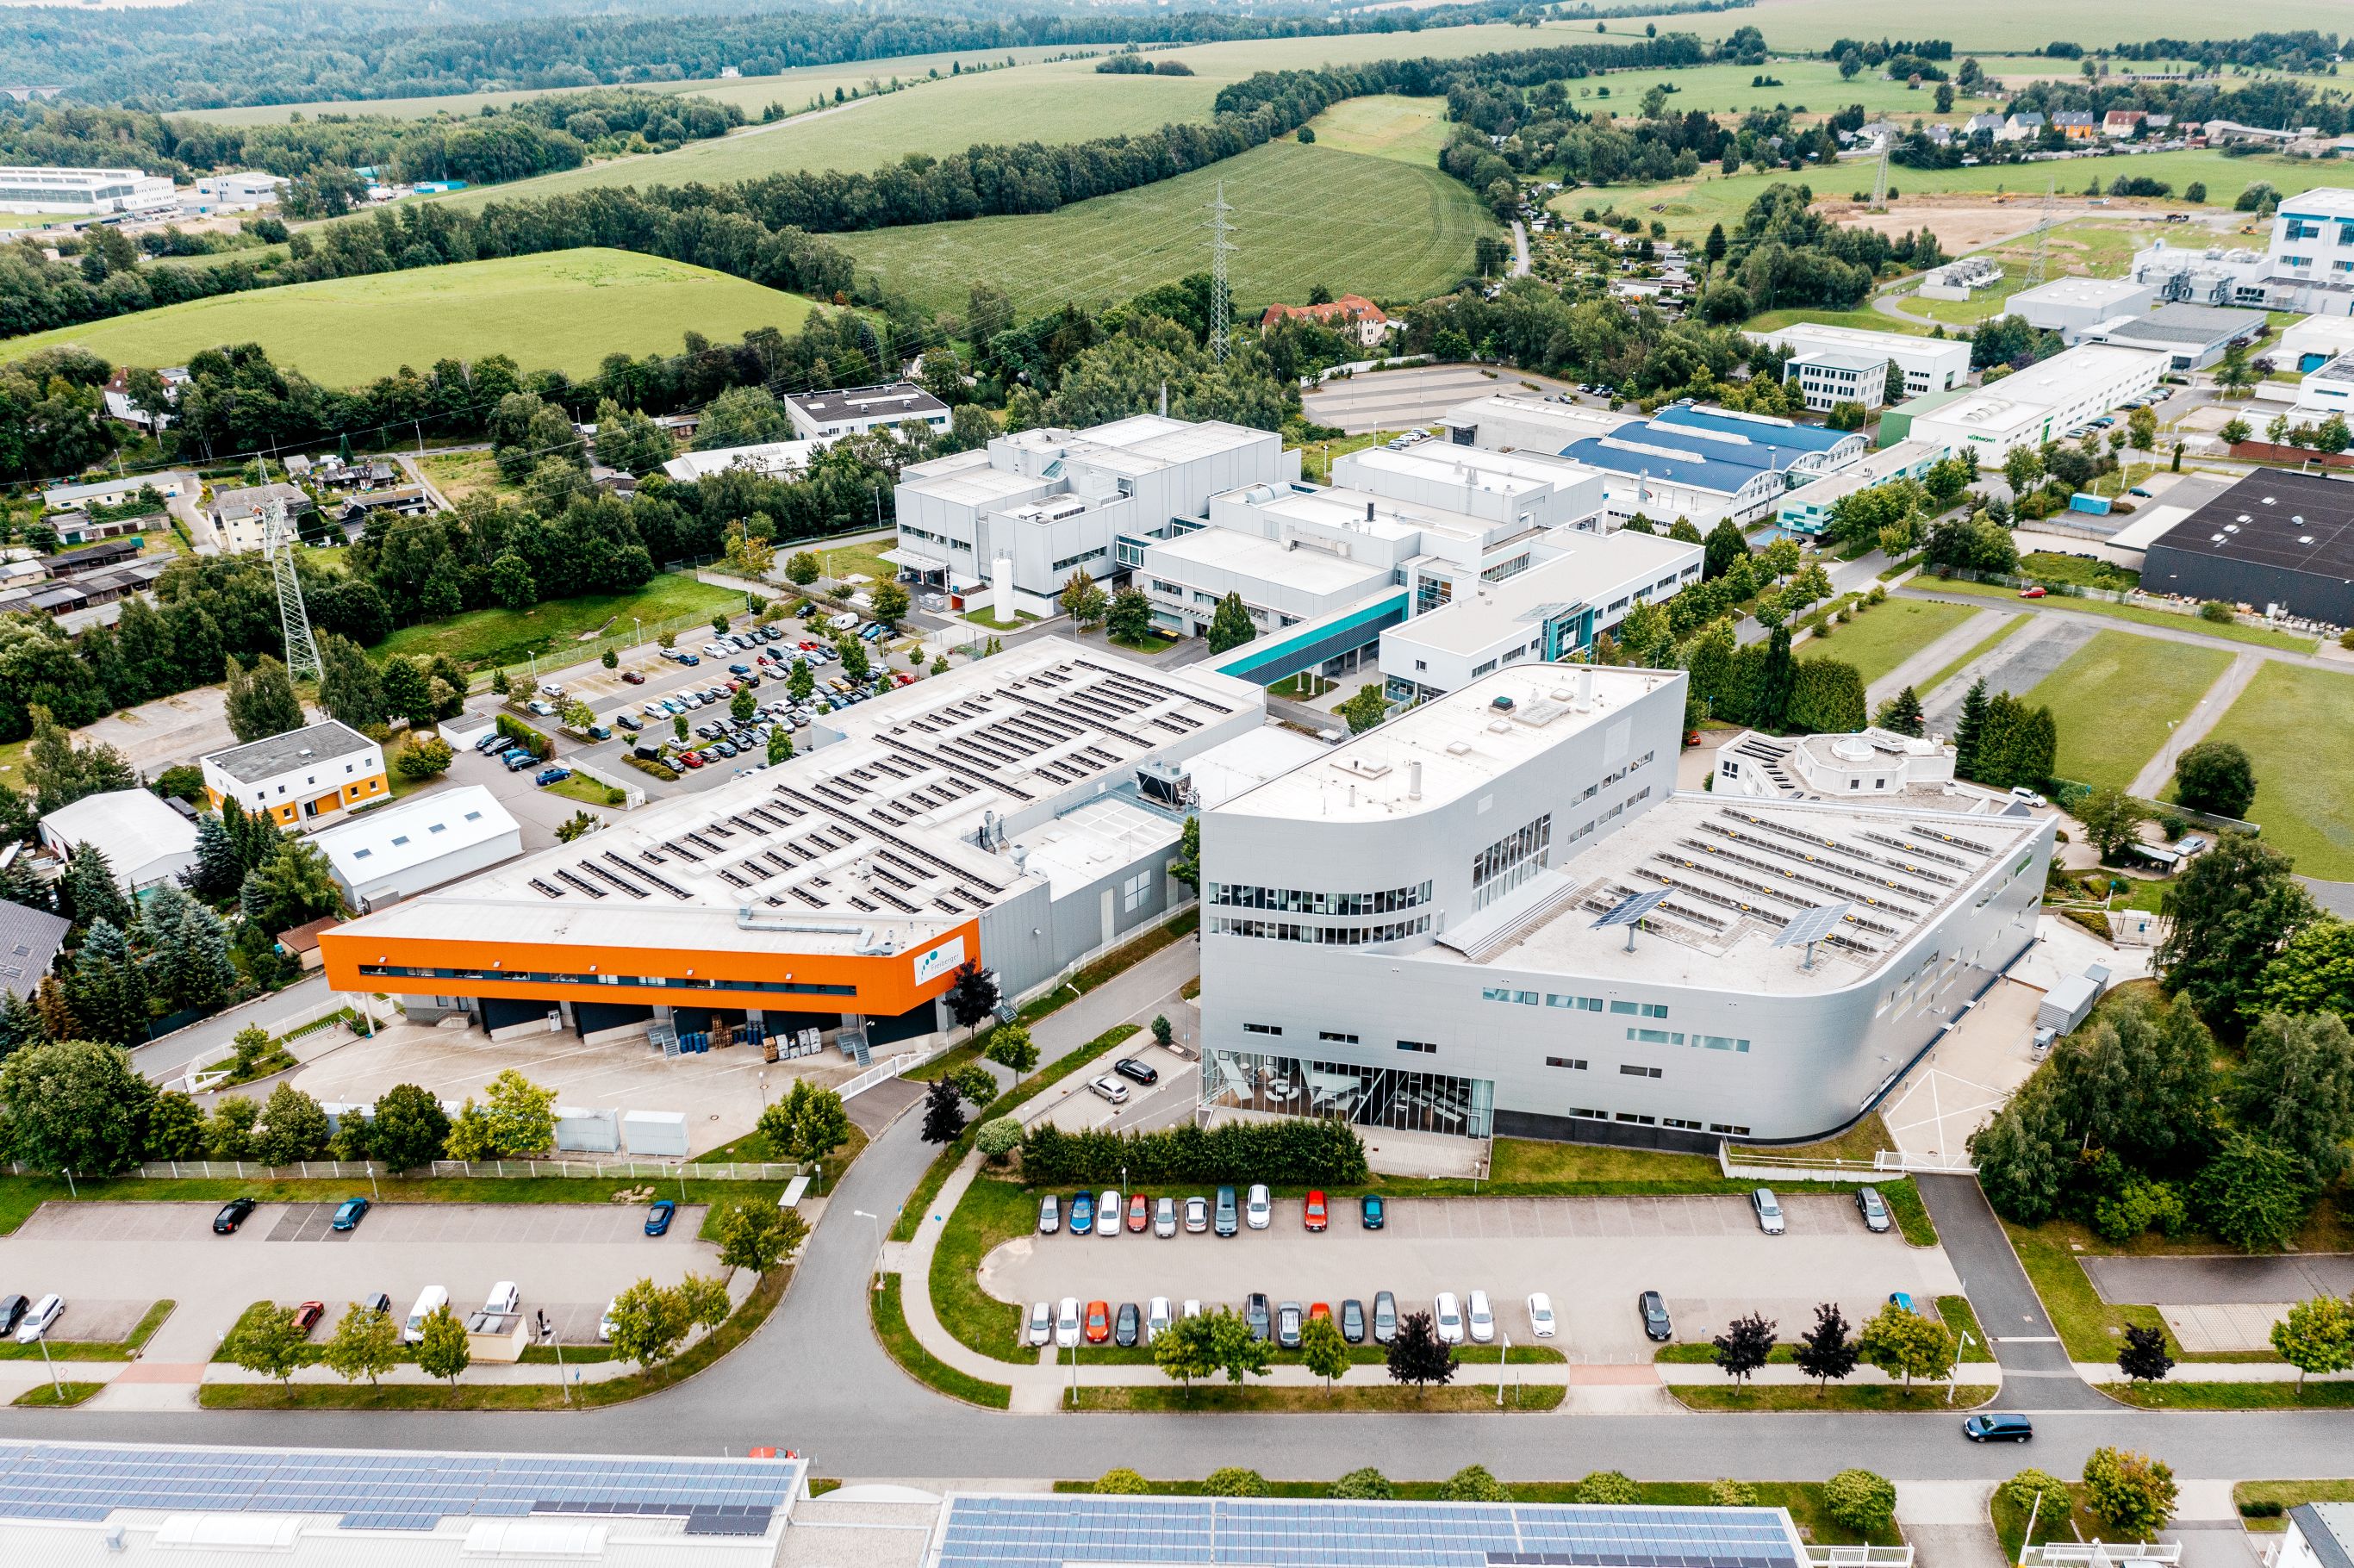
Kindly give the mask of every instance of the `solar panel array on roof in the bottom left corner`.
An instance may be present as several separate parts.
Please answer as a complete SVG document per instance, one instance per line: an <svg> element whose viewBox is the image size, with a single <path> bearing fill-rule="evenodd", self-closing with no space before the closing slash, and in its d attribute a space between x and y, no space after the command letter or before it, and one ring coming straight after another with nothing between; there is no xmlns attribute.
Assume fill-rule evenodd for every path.
<svg viewBox="0 0 2354 1568"><path fill-rule="evenodd" d="M353 1530L431 1530L452 1514L676 1514L699 1535L758 1535L798 1479L798 1460L0 1443L0 1519L337 1514Z"/></svg>

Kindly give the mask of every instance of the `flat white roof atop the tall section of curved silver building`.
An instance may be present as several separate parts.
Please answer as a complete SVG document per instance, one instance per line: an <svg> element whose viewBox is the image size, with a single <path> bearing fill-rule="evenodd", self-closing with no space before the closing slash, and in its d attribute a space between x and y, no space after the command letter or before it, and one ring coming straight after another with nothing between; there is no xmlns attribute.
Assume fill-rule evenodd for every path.
<svg viewBox="0 0 2354 1568"><path fill-rule="evenodd" d="M1577 706L1591 669L1594 704ZM1250 817L1382 822L1457 800L1572 735L1612 723L1620 711L1681 671L1516 664L1349 739L1323 758L1278 775L1222 810ZM1511 709L1492 699L1509 697ZM1422 796L1410 798L1422 763Z"/></svg>

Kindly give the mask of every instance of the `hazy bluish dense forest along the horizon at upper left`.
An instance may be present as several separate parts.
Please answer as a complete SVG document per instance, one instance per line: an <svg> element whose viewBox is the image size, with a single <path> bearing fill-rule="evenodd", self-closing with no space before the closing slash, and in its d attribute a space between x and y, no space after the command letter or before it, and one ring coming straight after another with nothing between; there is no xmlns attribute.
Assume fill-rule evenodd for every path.
<svg viewBox="0 0 2354 1568"><path fill-rule="evenodd" d="M1751 0L1561 5L1554 19L1723 12ZM593 87L774 75L796 66L1036 45L1222 42L1328 33L1417 33L1532 14L1525 0L1431 9L1271 14L1151 7L1050 7L967 0L930 14L885 5L758 12L751 5L633 5L633 14L563 14L584 5L468 5L468 21L414 7L318 12L297 0L207 0L158 9L0 12L0 75L61 82L85 104L219 108L315 99L440 97L485 89ZM558 12L558 14L548 14Z"/></svg>

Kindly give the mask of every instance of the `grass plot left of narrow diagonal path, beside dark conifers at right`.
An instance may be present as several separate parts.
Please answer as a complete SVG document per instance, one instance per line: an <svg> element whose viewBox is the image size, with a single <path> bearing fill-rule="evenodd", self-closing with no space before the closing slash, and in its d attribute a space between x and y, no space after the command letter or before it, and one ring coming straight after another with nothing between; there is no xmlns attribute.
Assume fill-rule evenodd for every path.
<svg viewBox="0 0 2354 1568"><path fill-rule="evenodd" d="M2227 669L2220 647L2095 631L2024 702L2060 725L2062 779L2126 789Z"/></svg>

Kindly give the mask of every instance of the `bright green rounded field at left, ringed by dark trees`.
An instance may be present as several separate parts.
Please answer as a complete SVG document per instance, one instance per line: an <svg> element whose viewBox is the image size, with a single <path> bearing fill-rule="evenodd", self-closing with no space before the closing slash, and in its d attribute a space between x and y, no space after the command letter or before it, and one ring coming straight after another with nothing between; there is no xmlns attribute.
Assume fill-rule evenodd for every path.
<svg viewBox="0 0 2354 1568"><path fill-rule="evenodd" d="M0 358L82 344L118 365L184 365L217 344L261 344L278 365L325 386L485 353L511 353L525 370L588 374L607 353L676 351L690 330L718 341L751 327L796 332L810 308L798 294L701 266L565 250L219 294L9 339Z"/></svg>

